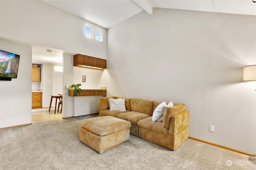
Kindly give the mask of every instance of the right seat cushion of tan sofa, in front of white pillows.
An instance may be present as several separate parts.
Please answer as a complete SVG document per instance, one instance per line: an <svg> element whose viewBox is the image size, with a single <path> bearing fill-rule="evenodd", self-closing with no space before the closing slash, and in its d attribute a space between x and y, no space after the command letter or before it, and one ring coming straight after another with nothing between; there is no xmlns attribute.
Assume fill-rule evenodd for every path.
<svg viewBox="0 0 256 170"><path fill-rule="evenodd" d="M157 131L164 134L168 133L168 128L163 127L161 122L153 122L152 117L148 117L146 119L138 121L137 125L138 127L144 127L152 131Z"/></svg>

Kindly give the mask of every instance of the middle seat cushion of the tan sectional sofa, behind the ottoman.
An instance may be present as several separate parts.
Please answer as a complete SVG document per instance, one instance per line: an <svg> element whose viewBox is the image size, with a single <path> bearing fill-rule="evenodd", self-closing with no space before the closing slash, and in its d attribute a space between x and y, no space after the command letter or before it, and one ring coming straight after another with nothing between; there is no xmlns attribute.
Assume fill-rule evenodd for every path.
<svg viewBox="0 0 256 170"><path fill-rule="evenodd" d="M137 125L138 121L145 119L147 117L150 117L150 115L146 113L136 112L136 111L129 111L126 113L120 113L116 115L116 117L119 119L130 121L132 124Z"/></svg>

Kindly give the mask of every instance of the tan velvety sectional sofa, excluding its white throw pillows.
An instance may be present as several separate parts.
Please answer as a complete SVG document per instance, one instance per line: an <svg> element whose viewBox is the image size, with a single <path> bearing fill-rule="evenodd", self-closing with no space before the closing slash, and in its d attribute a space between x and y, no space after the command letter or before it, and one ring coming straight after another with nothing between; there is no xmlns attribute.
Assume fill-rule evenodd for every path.
<svg viewBox="0 0 256 170"><path fill-rule="evenodd" d="M189 111L185 104L173 103L166 107L162 122L153 122L152 114L160 101L125 99L126 111L110 111L109 98L100 98L99 116L113 116L131 122L130 134L171 150L188 139ZM168 102L166 102L168 104Z"/></svg>

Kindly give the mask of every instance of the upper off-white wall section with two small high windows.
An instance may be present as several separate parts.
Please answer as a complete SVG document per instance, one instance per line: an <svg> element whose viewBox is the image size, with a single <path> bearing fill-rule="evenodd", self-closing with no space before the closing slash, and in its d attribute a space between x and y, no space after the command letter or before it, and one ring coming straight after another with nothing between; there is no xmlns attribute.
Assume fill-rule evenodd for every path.
<svg viewBox="0 0 256 170"><path fill-rule="evenodd" d="M106 59L107 30L40 0L0 1L1 37ZM84 36L84 23L102 30L103 43Z"/></svg>

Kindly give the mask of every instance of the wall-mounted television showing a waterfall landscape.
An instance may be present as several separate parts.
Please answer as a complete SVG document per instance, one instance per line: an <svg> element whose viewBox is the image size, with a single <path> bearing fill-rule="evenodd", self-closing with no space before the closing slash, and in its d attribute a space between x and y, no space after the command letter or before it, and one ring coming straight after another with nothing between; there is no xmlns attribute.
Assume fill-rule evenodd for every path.
<svg viewBox="0 0 256 170"><path fill-rule="evenodd" d="M17 78L20 55L0 50L0 80Z"/></svg>

